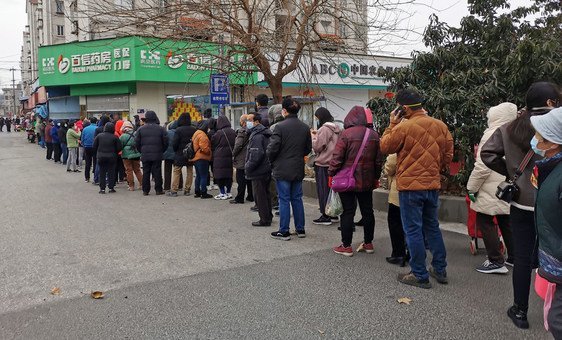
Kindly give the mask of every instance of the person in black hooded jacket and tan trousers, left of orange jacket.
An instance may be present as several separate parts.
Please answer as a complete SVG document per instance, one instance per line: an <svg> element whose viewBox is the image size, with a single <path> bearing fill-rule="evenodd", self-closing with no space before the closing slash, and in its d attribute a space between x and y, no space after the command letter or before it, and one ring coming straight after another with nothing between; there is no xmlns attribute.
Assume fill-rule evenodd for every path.
<svg viewBox="0 0 562 340"><path fill-rule="evenodd" d="M187 176L185 178L185 187L183 194L189 196L191 194L191 184L193 183L193 164L183 155L183 149L191 142L191 137L197 131L194 126L191 126L191 117L187 113L182 113L178 117L178 127L174 134L172 146L176 153L174 158L174 167L172 173L172 191L170 196L177 196L180 187L180 178L182 176L181 170L185 166L187 168Z"/></svg>

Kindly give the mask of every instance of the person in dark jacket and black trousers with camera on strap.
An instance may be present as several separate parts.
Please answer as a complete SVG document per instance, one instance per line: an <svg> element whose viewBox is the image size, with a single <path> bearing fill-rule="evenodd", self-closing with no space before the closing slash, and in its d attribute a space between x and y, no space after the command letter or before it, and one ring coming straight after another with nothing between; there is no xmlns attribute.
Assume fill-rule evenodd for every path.
<svg viewBox="0 0 562 340"><path fill-rule="evenodd" d="M530 179L534 163L542 158L530 148L535 133L531 126L531 117L548 113L558 106L559 102L558 86L548 82L532 84L525 97L526 109L513 122L498 128L480 151L484 164L506 178L513 178L516 170L519 167L523 168L515 181L519 192L511 201L509 210L514 262L513 305L507 311L515 326L523 329L529 328L527 310L531 273L538 262L535 242L535 189Z"/></svg>

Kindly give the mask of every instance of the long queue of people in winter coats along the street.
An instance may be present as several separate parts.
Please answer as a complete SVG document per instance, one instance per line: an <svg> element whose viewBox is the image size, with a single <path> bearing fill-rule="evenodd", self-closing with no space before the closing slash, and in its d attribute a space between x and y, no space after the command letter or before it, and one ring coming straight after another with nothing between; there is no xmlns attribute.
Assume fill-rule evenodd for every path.
<svg viewBox="0 0 562 340"><path fill-rule="evenodd" d="M539 82L529 88L524 109L517 111L515 104L507 102L491 107L467 184L487 250L487 260L476 270L505 274L507 266L513 267L514 302L507 315L517 327L528 328L531 275L539 268L538 275L549 282L552 292L547 324L556 338L562 338L562 108L557 108L561 97L558 86ZM231 204L255 202L251 210L259 219L251 225L270 227L278 215L279 226L271 237L288 241L293 235L306 237L302 185L305 158L313 157L320 217L312 223L329 226L339 221L341 243L333 251L347 257L375 251L372 192L384 169L390 189L392 244L386 261L409 265L408 272L397 276L402 284L429 289L430 278L448 284L438 207L442 177L448 174L453 158L453 138L447 126L424 109L420 93L412 89L397 93L398 107L390 113L390 125L382 136L374 130L371 111L361 106L351 108L343 129L327 109L320 108L315 113L318 125L311 130L298 119L301 107L296 100L288 97L281 105L268 108L266 99L262 95L256 98L258 110L242 115L236 131L226 116L195 124L186 113L166 130L153 111L134 125L107 116L99 122L86 120L83 128L75 121L49 121L45 129L49 135L45 138L47 159L54 153L54 161L61 162L62 153L67 170L79 171L76 161L82 147L85 181L93 174L100 194L105 194L106 187L115 192L121 163L128 190L140 186L145 196L154 182L156 195L167 192L178 197L183 189L184 196L191 196L193 190L195 198L214 197ZM164 185L163 162L167 164L165 176L169 176ZM209 193L213 189L211 173L219 190L216 196ZM234 178L238 184L235 196ZM510 199L497 193L504 183L516 188ZM341 200L339 216L328 214L331 192L338 193ZM279 211L274 214L276 198ZM354 247L357 207L363 238ZM432 255L429 267L426 250Z"/></svg>

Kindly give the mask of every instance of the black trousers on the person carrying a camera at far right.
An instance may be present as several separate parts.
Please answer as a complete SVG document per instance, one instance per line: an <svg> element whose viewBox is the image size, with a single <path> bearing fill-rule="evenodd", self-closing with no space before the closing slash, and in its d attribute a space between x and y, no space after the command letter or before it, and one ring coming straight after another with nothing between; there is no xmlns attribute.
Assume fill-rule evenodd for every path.
<svg viewBox="0 0 562 340"><path fill-rule="evenodd" d="M535 214L514 206L510 209L513 231L513 302L524 311L529 306L531 273L538 266Z"/></svg>

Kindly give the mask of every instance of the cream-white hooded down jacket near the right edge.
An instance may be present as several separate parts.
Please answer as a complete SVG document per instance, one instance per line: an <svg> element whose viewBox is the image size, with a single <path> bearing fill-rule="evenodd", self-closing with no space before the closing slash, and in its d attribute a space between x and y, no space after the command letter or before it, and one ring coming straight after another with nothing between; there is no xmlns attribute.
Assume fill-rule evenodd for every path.
<svg viewBox="0 0 562 340"><path fill-rule="evenodd" d="M476 202L470 204L470 207L486 215L509 215L509 204L496 197L496 189L498 185L505 180L505 176L488 168L480 153L482 146L486 144L500 126L507 124L517 118L517 106L512 103L502 103L498 106L490 108L488 111L488 128L484 131L482 139L480 139L480 147L476 154L476 163L474 170L470 174L466 189L469 192L478 193Z"/></svg>

